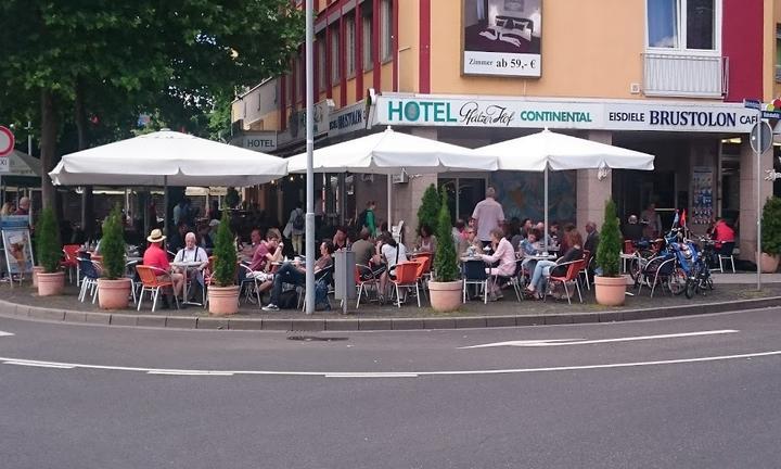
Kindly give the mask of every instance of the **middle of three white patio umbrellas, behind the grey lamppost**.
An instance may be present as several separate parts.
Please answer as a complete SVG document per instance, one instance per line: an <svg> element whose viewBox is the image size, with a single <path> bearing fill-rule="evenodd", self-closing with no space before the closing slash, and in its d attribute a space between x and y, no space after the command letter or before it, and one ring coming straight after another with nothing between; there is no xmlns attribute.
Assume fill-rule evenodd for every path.
<svg viewBox="0 0 781 469"><path fill-rule="evenodd" d="M306 153L291 156L291 173L306 172ZM496 170L495 157L476 157L473 150L423 137L394 131L390 127L354 140L315 150L315 173L368 173L393 175ZM388 177L388 225L392 183Z"/></svg>

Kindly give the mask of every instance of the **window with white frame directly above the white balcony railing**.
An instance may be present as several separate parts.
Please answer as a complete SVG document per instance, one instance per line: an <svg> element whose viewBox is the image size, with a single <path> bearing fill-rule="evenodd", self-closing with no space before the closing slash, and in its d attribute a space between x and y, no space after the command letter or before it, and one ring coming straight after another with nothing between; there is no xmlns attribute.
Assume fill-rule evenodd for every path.
<svg viewBox="0 0 781 469"><path fill-rule="evenodd" d="M648 46L654 49L720 49L720 0L646 0Z"/></svg>

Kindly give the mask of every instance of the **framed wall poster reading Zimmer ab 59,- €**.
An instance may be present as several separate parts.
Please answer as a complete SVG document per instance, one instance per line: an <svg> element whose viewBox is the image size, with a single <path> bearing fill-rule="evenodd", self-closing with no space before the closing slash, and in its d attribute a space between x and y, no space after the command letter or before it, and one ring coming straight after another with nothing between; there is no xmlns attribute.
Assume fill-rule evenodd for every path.
<svg viewBox="0 0 781 469"><path fill-rule="evenodd" d="M464 75L539 77L542 0L461 0Z"/></svg>

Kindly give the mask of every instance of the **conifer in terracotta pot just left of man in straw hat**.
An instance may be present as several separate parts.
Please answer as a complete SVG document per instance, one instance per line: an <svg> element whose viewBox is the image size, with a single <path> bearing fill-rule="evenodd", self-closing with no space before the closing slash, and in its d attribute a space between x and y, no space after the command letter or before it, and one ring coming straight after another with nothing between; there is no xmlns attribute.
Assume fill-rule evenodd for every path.
<svg viewBox="0 0 781 469"><path fill-rule="evenodd" d="M124 309L132 282L125 277L125 237L119 207L115 206L103 223L101 254L103 271L98 279L98 303L103 309Z"/></svg>

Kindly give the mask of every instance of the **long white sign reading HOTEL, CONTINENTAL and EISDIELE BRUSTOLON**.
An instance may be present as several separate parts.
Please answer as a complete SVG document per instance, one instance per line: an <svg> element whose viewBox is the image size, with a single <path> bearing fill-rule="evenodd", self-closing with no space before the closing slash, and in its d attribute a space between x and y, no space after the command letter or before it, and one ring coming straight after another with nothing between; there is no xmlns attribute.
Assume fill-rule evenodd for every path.
<svg viewBox="0 0 781 469"><path fill-rule="evenodd" d="M734 104L380 96L373 125L747 132L756 112Z"/></svg>

